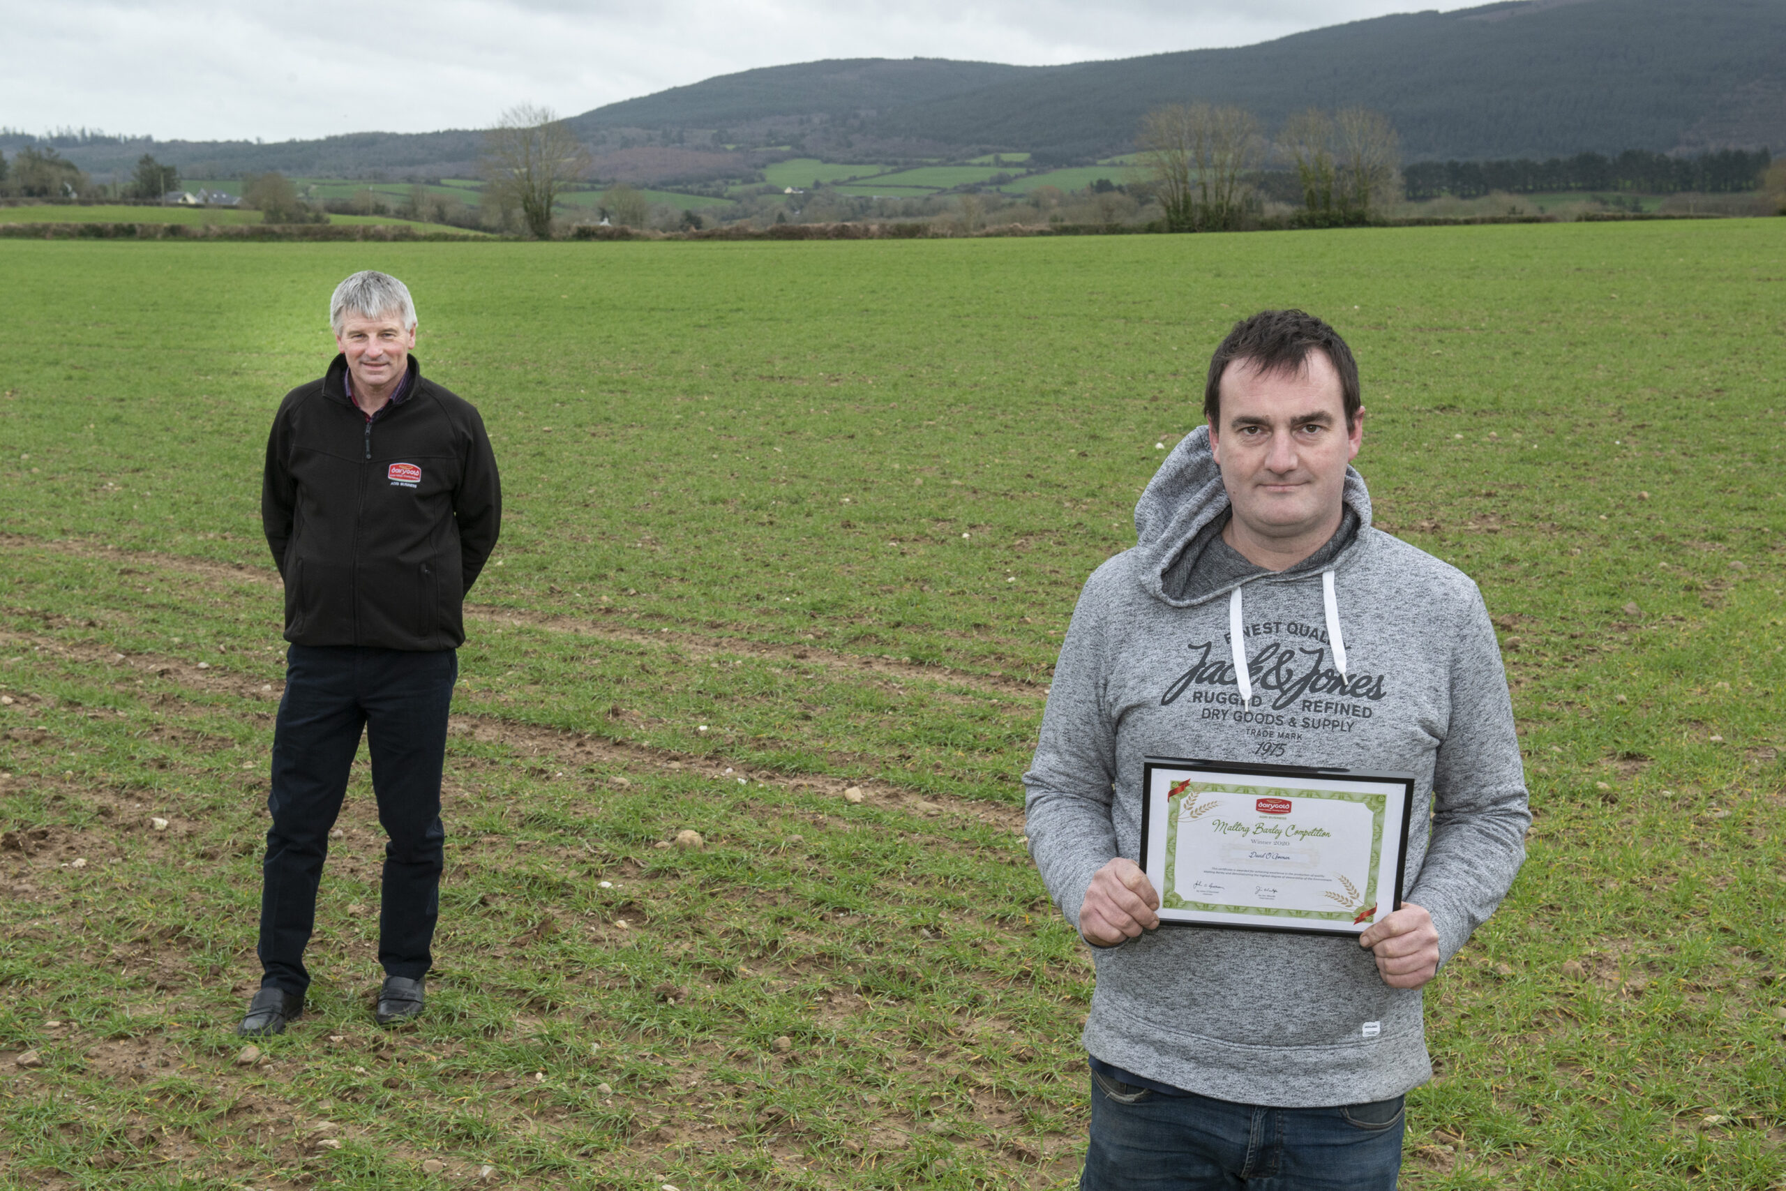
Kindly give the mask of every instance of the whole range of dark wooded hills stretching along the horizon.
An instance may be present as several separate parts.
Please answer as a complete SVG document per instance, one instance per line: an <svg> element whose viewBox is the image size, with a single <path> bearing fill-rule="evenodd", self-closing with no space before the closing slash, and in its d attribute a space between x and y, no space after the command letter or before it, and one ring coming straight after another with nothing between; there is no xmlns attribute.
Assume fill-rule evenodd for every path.
<svg viewBox="0 0 1786 1191"><path fill-rule="evenodd" d="M572 125L604 179L693 182L789 150L830 161L991 150L1029 152L1034 164L1091 161L1129 148L1148 109L1184 100L1239 104L1266 130L1304 107L1363 104L1395 121L1407 161L1786 150L1786 4L1513 0L1072 66L798 62L609 104ZM0 152L14 148L16 137L0 136ZM86 141L63 152L89 171L129 170L154 152L191 177L395 179L464 175L477 150L477 132L452 130L282 145Z"/></svg>

